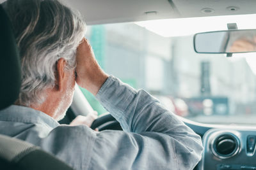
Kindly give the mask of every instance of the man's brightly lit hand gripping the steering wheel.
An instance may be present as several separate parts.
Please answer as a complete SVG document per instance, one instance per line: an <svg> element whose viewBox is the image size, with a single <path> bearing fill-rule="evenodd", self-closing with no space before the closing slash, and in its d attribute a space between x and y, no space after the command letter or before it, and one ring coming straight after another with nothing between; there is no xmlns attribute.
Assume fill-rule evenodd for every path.
<svg viewBox="0 0 256 170"><path fill-rule="evenodd" d="M75 126L75 125L86 125L88 127L91 127L92 122L98 117L97 116L97 111L93 111L92 113L89 113L86 117L79 115L77 116L71 123L70 125ZM95 131L99 131L95 129Z"/></svg>

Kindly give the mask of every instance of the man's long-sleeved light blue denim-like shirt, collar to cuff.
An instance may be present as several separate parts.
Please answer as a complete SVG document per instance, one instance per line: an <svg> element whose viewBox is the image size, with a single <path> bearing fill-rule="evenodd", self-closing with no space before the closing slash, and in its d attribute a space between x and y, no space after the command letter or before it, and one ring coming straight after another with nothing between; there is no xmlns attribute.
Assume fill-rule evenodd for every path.
<svg viewBox="0 0 256 170"><path fill-rule="evenodd" d="M60 125L13 105L0 111L0 134L40 146L75 169L193 169L201 159L200 136L145 90L110 76L96 97L124 131Z"/></svg>

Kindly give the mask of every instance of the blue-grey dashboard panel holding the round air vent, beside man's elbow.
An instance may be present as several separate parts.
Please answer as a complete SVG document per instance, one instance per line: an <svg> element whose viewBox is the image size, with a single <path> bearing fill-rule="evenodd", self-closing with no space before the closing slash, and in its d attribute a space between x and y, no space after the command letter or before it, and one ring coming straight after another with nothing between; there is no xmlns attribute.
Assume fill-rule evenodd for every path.
<svg viewBox="0 0 256 170"><path fill-rule="evenodd" d="M210 129L203 137L198 169L256 169L255 143L256 131Z"/></svg>

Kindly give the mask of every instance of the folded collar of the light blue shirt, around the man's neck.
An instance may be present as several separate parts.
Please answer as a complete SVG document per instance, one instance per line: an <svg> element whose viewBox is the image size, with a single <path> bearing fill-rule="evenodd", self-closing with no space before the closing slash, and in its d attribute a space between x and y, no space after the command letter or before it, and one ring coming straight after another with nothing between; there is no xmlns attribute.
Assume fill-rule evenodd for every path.
<svg viewBox="0 0 256 170"><path fill-rule="evenodd" d="M0 120L33 124L47 124L52 128L60 125L46 113L25 106L12 105L0 111Z"/></svg>

